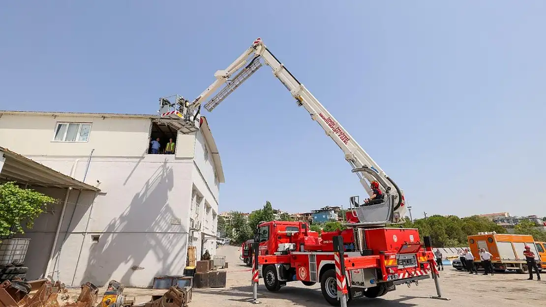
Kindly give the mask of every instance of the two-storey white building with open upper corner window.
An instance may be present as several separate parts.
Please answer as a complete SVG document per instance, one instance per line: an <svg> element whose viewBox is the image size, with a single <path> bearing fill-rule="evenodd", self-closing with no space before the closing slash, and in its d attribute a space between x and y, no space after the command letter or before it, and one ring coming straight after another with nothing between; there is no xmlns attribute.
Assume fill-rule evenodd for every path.
<svg viewBox="0 0 546 307"><path fill-rule="evenodd" d="M172 138L175 154L149 154L156 137L162 148ZM22 235L32 239L27 278L150 286L182 274L188 245L198 260L215 253L224 174L205 118L182 135L153 115L0 111L0 146L1 181L60 200ZM34 162L16 153L66 176L37 163L30 172Z"/></svg>

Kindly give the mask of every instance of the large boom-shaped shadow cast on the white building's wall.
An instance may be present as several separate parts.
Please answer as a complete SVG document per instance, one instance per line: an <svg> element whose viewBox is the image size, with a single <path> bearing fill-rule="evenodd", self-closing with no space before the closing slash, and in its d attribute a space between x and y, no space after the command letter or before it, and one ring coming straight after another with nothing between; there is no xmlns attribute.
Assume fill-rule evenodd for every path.
<svg viewBox="0 0 546 307"><path fill-rule="evenodd" d="M187 230L176 225L174 231L170 224L175 217L168 200L173 181L173 169L163 163L124 212L112 218L99 242L91 244L82 280L74 280L73 285L86 281L105 285L113 278L124 285L147 286L152 282L150 276L174 274L171 268L183 268Z"/></svg>

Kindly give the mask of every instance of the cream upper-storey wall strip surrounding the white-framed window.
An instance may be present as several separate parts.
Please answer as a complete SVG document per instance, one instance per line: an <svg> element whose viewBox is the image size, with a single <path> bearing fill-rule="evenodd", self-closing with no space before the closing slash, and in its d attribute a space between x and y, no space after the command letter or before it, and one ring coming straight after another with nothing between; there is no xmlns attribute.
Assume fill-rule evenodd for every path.
<svg viewBox="0 0 546 307"><path fill-rule="evenodd" d="M87 142L55 142L57 122L91 123ZM149 147L151 118L44 116L21 113L0 118L0 143L23 155L143 156ZM15 149L17 148L17 149Z"/></svg>

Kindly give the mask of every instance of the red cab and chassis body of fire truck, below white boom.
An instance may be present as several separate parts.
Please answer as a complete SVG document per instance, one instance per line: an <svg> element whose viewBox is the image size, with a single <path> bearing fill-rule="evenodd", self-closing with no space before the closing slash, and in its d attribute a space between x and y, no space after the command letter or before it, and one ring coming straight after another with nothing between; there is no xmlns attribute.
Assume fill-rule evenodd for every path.
<svg viewBox="0 0 546 307"><path fill-rule="evenodd" d="M265 287L275 292L290 281L320 282L328 303L339 305L334 236L343 237L349 300L380 297L396 285L418 284L437 273L432 250L425 250L417 229L349 226L318 236L306 222L271 221L259 224L254 238Z"/></svg>

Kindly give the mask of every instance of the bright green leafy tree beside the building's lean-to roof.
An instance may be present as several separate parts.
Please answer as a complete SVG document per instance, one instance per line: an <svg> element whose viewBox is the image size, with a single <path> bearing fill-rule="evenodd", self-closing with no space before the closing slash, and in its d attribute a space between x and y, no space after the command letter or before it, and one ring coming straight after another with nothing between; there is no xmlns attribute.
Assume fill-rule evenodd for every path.
<svg viewBox="0 0 546 307"><path fill-rule="evenodd" d="M38 191L21 189L15 182L0 184L0 236L24 233L23 222L32 228L47 204L56 201Z"/></svg>

